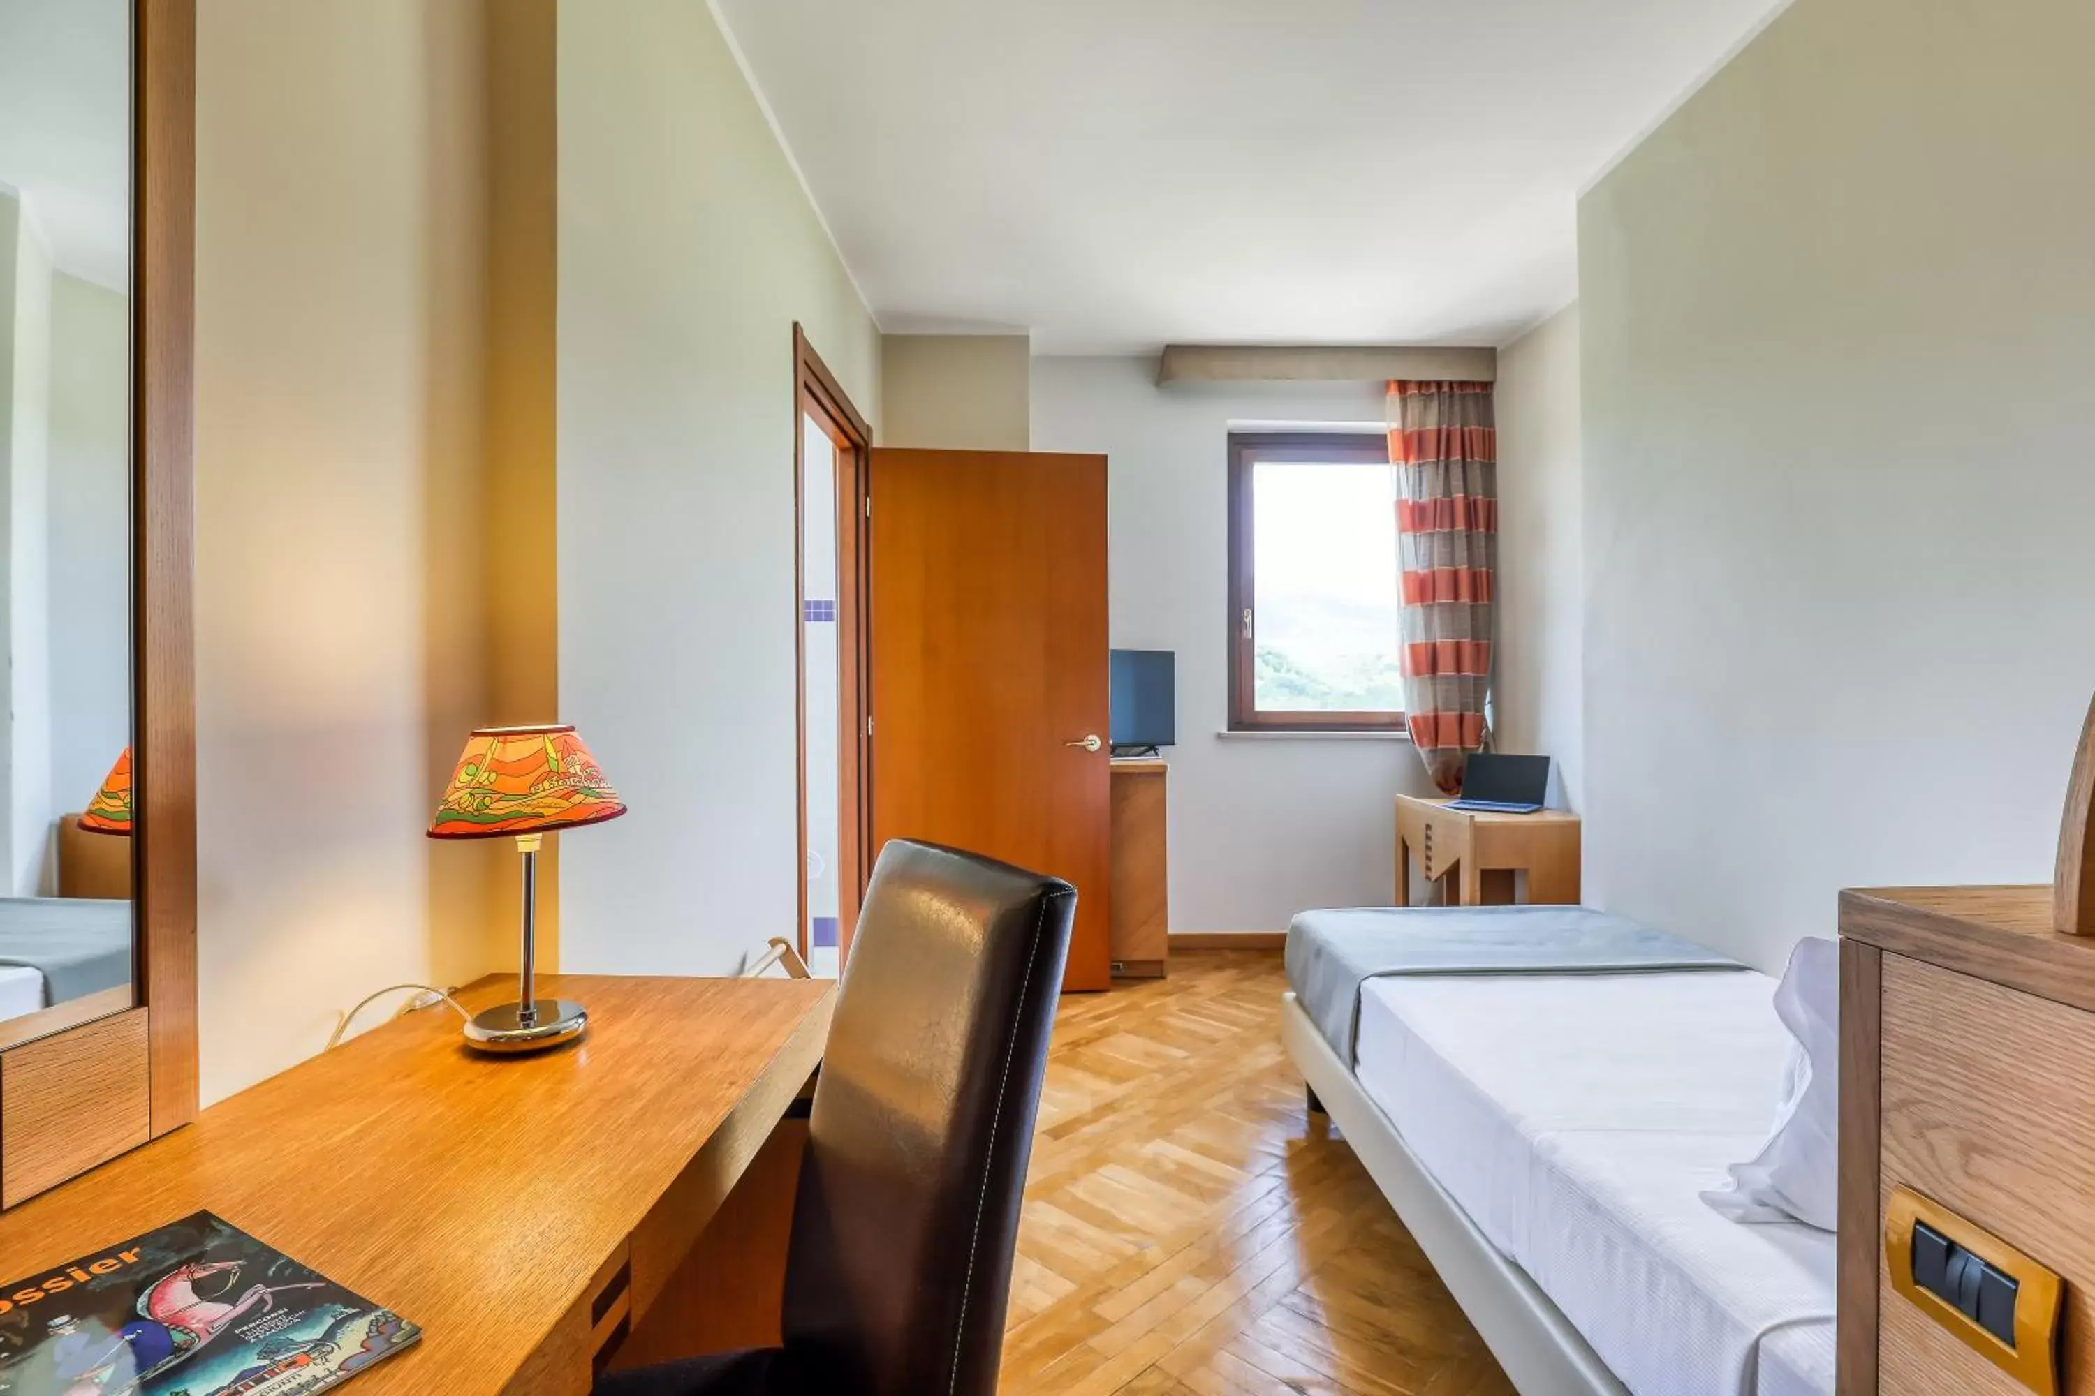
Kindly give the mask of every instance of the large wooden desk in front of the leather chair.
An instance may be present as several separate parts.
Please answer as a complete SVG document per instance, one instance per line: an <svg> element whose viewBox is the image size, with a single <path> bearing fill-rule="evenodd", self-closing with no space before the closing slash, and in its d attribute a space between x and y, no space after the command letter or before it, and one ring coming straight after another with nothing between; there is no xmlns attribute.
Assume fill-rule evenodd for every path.
<svg viewBox="0 0 2095 1396"><path fill-rule="evenodd" d="M513 992L488 977L459 1000ZM354 1396L585 1396L629 1331L649 1356L675 1346L643 1342L656 1310L710 1339L683 1327L691 1270L775 1302L781 1254L679 1270L821 1061L834 986L549 975L541 992L589 1007L580 1044L482 1057L448 1009L396 1019L0 1214L0 1281L212 1210L423 1327Z"/></svg>

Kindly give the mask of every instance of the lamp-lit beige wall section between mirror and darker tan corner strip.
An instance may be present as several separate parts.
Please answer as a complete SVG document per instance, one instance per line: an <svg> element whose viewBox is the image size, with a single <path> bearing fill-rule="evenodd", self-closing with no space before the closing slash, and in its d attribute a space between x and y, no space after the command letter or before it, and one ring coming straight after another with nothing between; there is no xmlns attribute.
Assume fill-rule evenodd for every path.
<svg viewBox="0 0 2095 1396"><path fill-rule="evenodd" d="M205 1101L513 959L513 856L423 837L494 707L482 4L199 6Z"/></svg>

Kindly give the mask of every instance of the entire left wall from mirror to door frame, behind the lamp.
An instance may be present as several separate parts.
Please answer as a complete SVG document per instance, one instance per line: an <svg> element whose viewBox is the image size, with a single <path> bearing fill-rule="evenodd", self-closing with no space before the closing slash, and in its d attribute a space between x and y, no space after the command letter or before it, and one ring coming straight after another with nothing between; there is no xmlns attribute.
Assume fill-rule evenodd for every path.
<svg viewBox="0 0 2095 1396"><path fill-rule="evenodd" d="M691 858L649 841L664 829L740 839L698 862L790 925L792 322L861 406L878 333L706 10L582 8L203 6L205 1099L316 1051L369 990L513 965L513 852L423 839L473 724L578 718L624 776L637 814L591 831L626 862L597 871L595 898L585 869L585 904L612 913L585 961L629 946L605 877L656 898L664 938L693 923ZM689 144L649 153L635 130ZM587 172L564 207L561 147ZM561 354L582 366L559 375ZM672 546L631 557L658 523ZM620 592L635 561L658 571ZM775 622L752 594L773 594ZM580 636L568 686L564 630ZM666 653L704 672L716 712L658 689ZM698 779L652 785L656 733L687 716ZM281 793L306 789L321 797L289 818ZM769 921L712 923L704 963ZM641 938L639 967L662 948Z"/></svg>

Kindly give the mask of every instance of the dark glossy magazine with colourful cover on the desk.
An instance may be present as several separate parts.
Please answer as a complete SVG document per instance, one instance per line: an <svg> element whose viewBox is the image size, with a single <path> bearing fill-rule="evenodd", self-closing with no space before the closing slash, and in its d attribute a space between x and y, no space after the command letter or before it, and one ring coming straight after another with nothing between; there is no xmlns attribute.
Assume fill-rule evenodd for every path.
<svg viewBox="0 0 2095 1396"><path fill-rule="evenodd" d="M310 1396L417 1337L197 1212L0 1285L0 1396Z"/></svg>

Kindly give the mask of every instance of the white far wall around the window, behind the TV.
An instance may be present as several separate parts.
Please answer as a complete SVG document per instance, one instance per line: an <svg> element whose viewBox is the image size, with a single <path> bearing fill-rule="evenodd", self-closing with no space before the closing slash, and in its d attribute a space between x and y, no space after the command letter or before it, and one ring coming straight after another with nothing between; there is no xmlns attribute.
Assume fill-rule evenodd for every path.
<svg viewBox="0 0 2095 1396"><path fill-rule="evenodd" d="M1408 741L1217 737L1230 716L1230 427L1376 425L1383 389L1154 379L1154 358L1033 360L1033 448L1108 456L1112 643L1177 653L1171 929L1278 931L1309 906L1387 904L1393 797L1431 793Z"/></svg>

